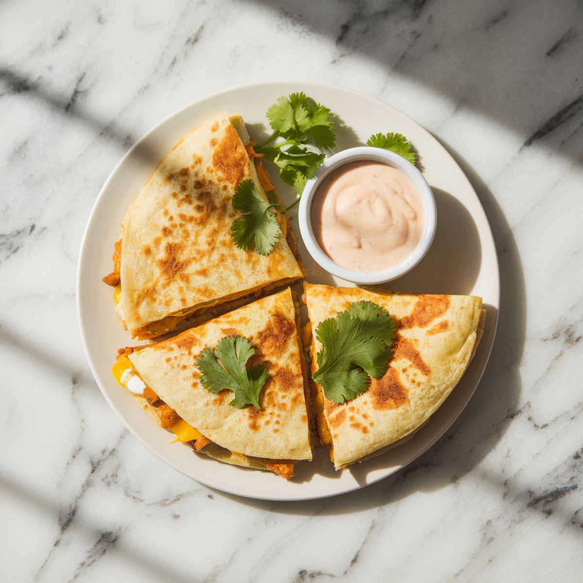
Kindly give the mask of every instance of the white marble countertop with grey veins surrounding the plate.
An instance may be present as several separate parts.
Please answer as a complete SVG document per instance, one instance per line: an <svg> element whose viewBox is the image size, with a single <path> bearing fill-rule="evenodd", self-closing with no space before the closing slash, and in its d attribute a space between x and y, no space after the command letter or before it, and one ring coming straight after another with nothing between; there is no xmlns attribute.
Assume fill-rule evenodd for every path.
<svg viewBox="0 0 583 583"><path fill-rule="evenodd" d="M378 97L454 154L502 298L468 408L345 496L244 500L122 426L80 345L100 187L177 108L261 80ZM583 570L583 6L578 0L0 4L5 581L577 581Z"/></svg>

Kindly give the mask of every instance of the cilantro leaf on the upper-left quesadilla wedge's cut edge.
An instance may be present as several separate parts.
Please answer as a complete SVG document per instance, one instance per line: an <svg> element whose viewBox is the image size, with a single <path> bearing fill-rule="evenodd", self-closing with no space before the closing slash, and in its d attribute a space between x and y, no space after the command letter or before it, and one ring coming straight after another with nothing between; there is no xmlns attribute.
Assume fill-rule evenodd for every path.
<svg viewBox="0 0 583 583"><path fill-rule="evenodd" d="M233 208L243 216L231 223L231 238L236 247L250 251L255 239L256 253L268 255L273 251L282 232L274 206L259 194L252 180L240 182L233 196Z"/></svg>

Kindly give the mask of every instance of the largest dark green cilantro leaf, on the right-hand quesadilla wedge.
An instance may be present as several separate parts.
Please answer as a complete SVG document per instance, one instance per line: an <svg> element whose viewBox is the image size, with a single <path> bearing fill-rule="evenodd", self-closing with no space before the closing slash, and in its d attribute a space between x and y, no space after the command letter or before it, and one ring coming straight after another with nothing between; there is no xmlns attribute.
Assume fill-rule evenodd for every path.
<svg viewBox="0 0 583 583"><path fill-rule="evenodd" d="M370 378L381 378L392 357L396 325L389 313L371 301L359 301L336 318L318 324L322 349L312 375L326 398L350 401L368 389Z"/></svg>

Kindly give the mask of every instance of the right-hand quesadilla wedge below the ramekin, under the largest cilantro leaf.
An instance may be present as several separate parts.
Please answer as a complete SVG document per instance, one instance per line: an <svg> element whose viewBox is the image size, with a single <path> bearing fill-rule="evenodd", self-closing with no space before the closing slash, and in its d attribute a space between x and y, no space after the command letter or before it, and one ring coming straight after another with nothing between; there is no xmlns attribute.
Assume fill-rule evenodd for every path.
<svg viewBox="0 0 583 583"><path fill-rule="evenodd" d="M339 321L339 313L354 310L356 303L372 302L377 315L388 312L394 327L385 360L388 364L379 378L367 378L361 394L335 402L311 380L318 433L322 444L331 445L336 469L405 442L433 415L468 367L486 313L482 298L475 296L391 293L305 282L303 300L310 317L304 343L310 345L312 375L321 366L325 351L336 348L320 341L322 322L336 318L341 322L338 329L346 322L356 326L356 320ZM350 371L353 373L363 371Z"/></svg>

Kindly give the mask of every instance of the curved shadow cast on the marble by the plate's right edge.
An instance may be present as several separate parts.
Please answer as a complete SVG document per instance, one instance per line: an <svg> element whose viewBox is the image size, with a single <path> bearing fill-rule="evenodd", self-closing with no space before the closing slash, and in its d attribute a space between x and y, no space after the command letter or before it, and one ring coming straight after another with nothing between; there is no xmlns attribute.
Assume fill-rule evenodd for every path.
<svg viewBox="0 0 583 583"><path fill-rule="evenodd" d="M270 512L335 515L381 507L423 491L456 487L459 480L496 447L517 415L522 388L519 365L526 326L526 290L517 244L500 206L484 182L461 156L447 144L443 145L462 167L482 202L500 261L501 301L497 336L490 361L472 399L444 437L428 451L399 472L371 486L342 496L301 502L223 496ZM504 476L491 476L489 481L488 487L497 487L500 494L507 490Z"/></svg>

